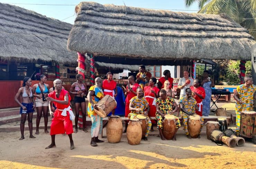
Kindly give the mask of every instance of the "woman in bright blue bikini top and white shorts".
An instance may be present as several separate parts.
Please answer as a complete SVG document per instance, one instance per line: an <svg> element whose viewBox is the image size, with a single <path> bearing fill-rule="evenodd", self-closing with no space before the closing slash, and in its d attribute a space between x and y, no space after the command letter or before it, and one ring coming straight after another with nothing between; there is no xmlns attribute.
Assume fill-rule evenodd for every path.
<svg viewBox="0 0 256 169"><path fill-rule="evenodd" d="M39 79L39 83L34 84L32 87L32 93L34 94L36 92L36 94L34 94L34 96L36 97L37 111L35 134L39 134L39 123L42 117L42 113L44 114L44 132L49 133L49 131L47 130L49 101L46 100L47 94L49 93L49 85L45 84L47 80L45 75L37 73L36 78Z"/></svg>

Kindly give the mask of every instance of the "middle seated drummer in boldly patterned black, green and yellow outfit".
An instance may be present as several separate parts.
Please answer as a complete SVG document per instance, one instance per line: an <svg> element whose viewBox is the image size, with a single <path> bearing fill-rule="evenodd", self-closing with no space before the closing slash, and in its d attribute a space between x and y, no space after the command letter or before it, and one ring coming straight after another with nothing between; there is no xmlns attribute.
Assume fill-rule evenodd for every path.
<svg viewBox="0 0 256 169"><path fill-rule="evenodd" d="M173 107L175 108L172 111ZM156 99L156 120L157 120L157 128L159 130L159 134L162 140L166 140L162 132L164 116L167 114L173 114L177 112L177 110L178 110L178 106L175 103L174 99L171 97L167 97L166 91L164 89L161 89L159 93L159 97ZM176 130L172 139L174 141L176 140L177 130L179 129L179 127L181 127L180 120L176 116L175 116L175 122L176 122Z"/></svg>

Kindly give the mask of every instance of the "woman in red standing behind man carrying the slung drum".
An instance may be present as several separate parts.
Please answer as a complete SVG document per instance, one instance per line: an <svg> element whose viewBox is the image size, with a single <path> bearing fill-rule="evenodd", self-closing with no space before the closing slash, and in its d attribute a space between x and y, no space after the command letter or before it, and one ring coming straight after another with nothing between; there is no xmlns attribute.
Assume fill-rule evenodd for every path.
<svg viewBox="0 0 256 169"><path fill-rule="evenodd" d="M103 93L104 96L110 95L112 97L117 96L117 83L113 81L113 74L111 72L107 73L107 78L102 82L102 88L103 88ZM116 89L116 94L115 90ZM115 115L115 109L112 110L112 115Z"/></svg>

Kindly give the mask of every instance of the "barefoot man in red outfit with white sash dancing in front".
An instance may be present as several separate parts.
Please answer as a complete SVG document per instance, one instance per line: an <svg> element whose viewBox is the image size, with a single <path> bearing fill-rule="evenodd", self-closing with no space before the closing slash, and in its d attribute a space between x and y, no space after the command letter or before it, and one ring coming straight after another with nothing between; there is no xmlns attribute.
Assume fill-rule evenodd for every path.
<svg viewBox="0 0 256 169"><path fill-rule="evenodd" d="M74 142L72 139L73 125L72 118L74 114L70 107L71 97L65 89L62 89L62 82L60 79L53 81L55 90L48 94L46 97L47 101L50 101L51 107L52 104L57 107L55 112L51 114L53 117L50 135L52 137L52 143L45 147L46 149L56 147L55 145L55 135L56 134L66 134L70 139L70 149L74 149ZM72 118L70 118L72 117Z"/></svg>

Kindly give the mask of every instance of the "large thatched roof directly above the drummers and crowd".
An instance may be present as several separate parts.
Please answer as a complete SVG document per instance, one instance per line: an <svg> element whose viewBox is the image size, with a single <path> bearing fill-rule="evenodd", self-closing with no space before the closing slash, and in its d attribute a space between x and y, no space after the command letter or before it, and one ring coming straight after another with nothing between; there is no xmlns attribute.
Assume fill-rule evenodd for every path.
<svg viewBox="0 0 256 169"><path fill-rule="evenodd" d="M254 38L226 15L151 10L95 2L75 7L67 49L128 64L155 59L250 59ZM109 56L109 57L108 57ZM131 60L129 60L131 58ZM140 58L137 61L133 59ZM125 61L125 60L119 60ZM134 61L134 62L130 62ZM139 62L140 61L140 62ZM106 61L104 61L106 62ZM119 62L120 63L120 62ZM161 63L162 64L162 63Z"/></svg>

